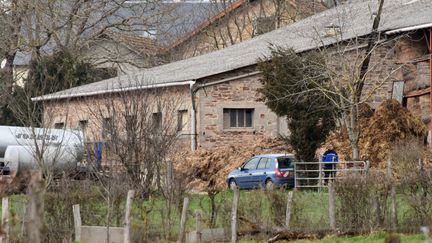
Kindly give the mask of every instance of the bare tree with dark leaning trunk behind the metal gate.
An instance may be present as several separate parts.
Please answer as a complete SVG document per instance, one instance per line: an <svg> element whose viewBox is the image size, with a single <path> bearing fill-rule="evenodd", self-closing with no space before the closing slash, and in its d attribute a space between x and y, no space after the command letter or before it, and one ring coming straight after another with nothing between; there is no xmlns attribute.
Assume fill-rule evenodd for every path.
<svg viewBox="0 0 432 243"><path fill-rule="evenodd" d="M360 122L359 122L359 105L367 102L376 90L382 87L392 78L392 75L400 68L393 67L391 70L379 70L384 64L391 50L386 53L386 58L371 64L371 58L375 51L383 48L389 43L379 42L378 27L380 24L384 0L378 3L378 9L373 21L371 34L364 38L356 37L348 42L342 41L342 29L344 28L344 18L341 16L337 26L331 26L334 31L331 33L337 40L335 49L324 47L322 54L327 60L337 60L337 63L328 65L331 84L329 87L321 85L321 91L332 100L336 107L342 112L343 124L348 130L348 137L351 143L352 159L359 159L359 139L360 139ZM394 40L393 40L394 41ZM362 48L366 44L366 47ZM331 61L330 61L331 62ZM386 76L376 83L370 83L370 74L374 71L386 71ZM369 84L367 90L364 89L366 83ZM317 85L319 85L317 83Z"/></svg>

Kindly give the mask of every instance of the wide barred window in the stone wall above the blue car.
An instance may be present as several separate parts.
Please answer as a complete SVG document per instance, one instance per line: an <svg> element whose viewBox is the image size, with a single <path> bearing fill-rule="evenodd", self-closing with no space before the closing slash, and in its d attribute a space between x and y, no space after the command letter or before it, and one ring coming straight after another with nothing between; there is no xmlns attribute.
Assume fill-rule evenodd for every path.
<svg viewBox="0 0 432 243"><path fill-rule="evenodd" d="M242 128L253 126L254 109L224 109L224 128Z"/></svg>

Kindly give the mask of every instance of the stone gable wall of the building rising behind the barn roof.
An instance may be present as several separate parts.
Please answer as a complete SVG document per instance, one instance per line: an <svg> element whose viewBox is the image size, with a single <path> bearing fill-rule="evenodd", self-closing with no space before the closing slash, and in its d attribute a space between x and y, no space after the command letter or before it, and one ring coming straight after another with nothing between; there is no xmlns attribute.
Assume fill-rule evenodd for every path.
<svg viewBox="0 0 432 243"><path fill-rule="evenodd" d="M169 49L167 59L182 60L254 38L258 35L257 24L260 19L273 18L274 28L280 28L325 9L319 1L311 0L245 1L235 10L226 11L224 17L174 45Z"/></svg>

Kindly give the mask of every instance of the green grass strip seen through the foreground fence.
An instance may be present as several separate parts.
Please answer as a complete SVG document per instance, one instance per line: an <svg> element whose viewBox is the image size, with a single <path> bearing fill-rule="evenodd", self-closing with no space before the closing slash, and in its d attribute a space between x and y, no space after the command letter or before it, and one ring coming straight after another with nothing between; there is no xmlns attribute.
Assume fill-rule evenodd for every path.
<svg viewBox="0 0 432 243"><path fill-rule="evenodd" d="M207 195L191 194L190 198L187 230L195 229L195 211L200 210L203 217L203 227L209 228L210 218L210 198ZM248 218L253 222L264 225L282 226L285 219L287 190L275 190L273 192L241 191L239 215ZM84 197L87 198L87 197ZM215 201L218 206L215 227L230 228L231 205L233 193L223 191L216 195ZM14 195L10 197L11 211L18 214L23 212L25 206L25 195ZM97 200L97 201L94 201ZM173 205L171 210L171 235L175 237L179 230L181 204ZM272 204L273 202L273 204ZM121 226L124 217L124 204L122 201L118 209L119 224L112 221L112 226ZM273 205L273 207L272 207ZM103 225L105 223L106 203L102 198L81 201L81 218L84 225ZM325 191L296 191L294 194L293 215L291 227L298 230L319 230L329 228L328 219L328 194ZM70 213L72 208L70 208ZM389 213L388 213L389 214ZM413 210L408 205L404 196L398 195L398 219L400 226L409 226L412 219ZM162 235L164 223L166 223L166 206L161 196L155 196L151 200L144 202L134 200L133 225L141 231L146 231L152 235ZM275 219L279 222L275 222ZM246 230L247 225L239 223L239 230ZM377 233L369 236L358 237L328 237L318 242L384 242L385 234ZM420 235L402 235L402 242L421 241ZM253 242L253 241L252 241ZM311 241L299 241L311 242Z"/></svg>

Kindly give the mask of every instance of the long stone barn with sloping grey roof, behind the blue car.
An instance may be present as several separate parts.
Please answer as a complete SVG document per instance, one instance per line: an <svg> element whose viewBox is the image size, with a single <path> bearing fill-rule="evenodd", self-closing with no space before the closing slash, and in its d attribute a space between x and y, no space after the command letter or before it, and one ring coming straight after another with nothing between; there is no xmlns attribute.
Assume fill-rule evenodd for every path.
<svg viewBox="0 0 432 243"><path fill-rule="evenodd" d="M247 144L288 134L286 118L278 117L259 100L259 58L270 54L271 45L298 53L325 47L331 54L343 50L338 58L344 60L329 63L348 62L355 67L358 53L372 34L376 9L376 1L347 3L221 50L35 97L34 101L43 102L46 125L82 127L89 134L88 142L104 139L103 124L114 115L112 109L100 108L106 97L139 97L141 93L178 101L175 111L159 103L148 112L153 122L173 117L178 137L190 149ZM379 45L374 48L373 68L365 86L374 92L364 97L372 107L396 98L429 125L431 9L429 0L385 2ZM92 116L96 111L101 111L97 119Z"/></svg>

